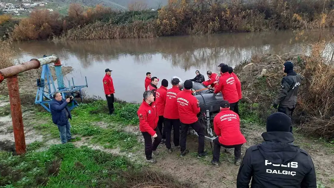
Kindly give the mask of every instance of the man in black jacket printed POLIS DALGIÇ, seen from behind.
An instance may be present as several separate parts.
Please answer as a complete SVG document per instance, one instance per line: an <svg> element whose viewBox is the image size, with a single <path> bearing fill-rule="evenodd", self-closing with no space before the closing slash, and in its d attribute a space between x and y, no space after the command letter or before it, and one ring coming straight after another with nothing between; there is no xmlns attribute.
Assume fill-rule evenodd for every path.
<svg viewBox="0 0 334 188"><path fill-rule="evenodd" d="M264 142L249 147L240 165L236 187L316 188L316 174L311 156L294 146L289 132L291 119L276 112L267 119Z"/></svg>

